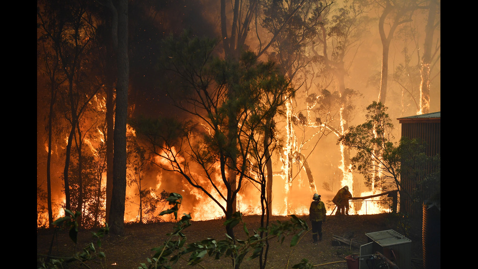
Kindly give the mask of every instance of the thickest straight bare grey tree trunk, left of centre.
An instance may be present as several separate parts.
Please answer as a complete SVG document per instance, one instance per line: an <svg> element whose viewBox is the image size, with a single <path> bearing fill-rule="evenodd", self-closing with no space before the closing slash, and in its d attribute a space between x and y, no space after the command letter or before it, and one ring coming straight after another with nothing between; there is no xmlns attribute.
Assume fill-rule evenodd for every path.
<svg viewBox="0 0 478 269"><path fill-rule="evenodd" d="M110 231L124 233L124 203L126 198L126 120L128 109L128 1L118 2L118 83L113 157L113 194L110 208Z"/></svg>

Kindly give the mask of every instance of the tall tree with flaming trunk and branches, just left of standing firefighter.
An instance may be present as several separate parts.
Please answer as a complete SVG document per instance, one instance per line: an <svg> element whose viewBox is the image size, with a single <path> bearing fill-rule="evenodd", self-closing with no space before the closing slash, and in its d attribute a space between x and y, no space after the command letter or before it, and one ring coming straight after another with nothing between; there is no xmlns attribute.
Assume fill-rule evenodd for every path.
<svg viewBox="0 0 478 269"><path fill-rule="evenodd" d="M264 16L261 21L261 26L267 30L267 32L273 36L271 42L266 45L270 47L271 52L269 57L274 59L280 66L281 72L287 76L287 78L297 84L296 90L299 90L305 85L306 91L311 83L308 80L308 65L314 61L314 57L311 55L308 49L313 40L317 38L320 18L323 16L324 10L326 10L332 1L271 1L263 4ZM260 41L260 40L259 40ZM309 83L309 84L308 84ZM308 84L308 85L307 85ZM280 175L286 180L285 195L287 212L290 213L289 207L289 195L292 182L296 176L292 173L293 163L300 163L302 167L305 167L309 185L312 192L317 192L314 178L310 167L308 166L307 157L301 152L301 146L307 142L312 141L317 134L323 131L315 132L312 138L303 139L304 144L300 144L299 139L296 136L294 129L295 126L306 128L306 126L315 125L315 121L308 122L308 119L302 114L302 111L294 111L297 107L294 107L292 98L288 99L285 103L285 133L278 132L274 135L284 135L283 148L279 148L281 151L282 159L282 171ZM309 107L307 107L309 108ZM306 112L307 116L310 115L310 110ZM300 121L297 119L300 118ZM301 122L303 124L298 124ZM300 128L299 127L299 128ZM314 127L317 127L314 126ZM312 127L312 128L314 128ZM305 134L305 131L303 132ZM305 142L304 142L305 141ZM302 167L299 168L297 174L300 173ZM268 164L268 183L267 186L268 196L272 196L272 164L269 161ZM271 199L269 200L269 203ZM270 207L270 205L269 205Z"/></svg>

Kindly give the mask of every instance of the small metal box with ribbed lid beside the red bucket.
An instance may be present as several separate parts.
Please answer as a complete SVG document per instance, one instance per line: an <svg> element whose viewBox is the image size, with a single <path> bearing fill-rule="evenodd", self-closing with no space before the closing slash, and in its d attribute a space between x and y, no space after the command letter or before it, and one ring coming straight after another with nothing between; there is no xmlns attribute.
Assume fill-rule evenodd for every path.
<svg viewBox="0 0 478 269"><path fill-rule="evenodd" d="M400 269L410 269L412 241L394 230L383 230L365 234L368 243L360 246L360 269L368 269L368 255L380 252Z"/></svg>

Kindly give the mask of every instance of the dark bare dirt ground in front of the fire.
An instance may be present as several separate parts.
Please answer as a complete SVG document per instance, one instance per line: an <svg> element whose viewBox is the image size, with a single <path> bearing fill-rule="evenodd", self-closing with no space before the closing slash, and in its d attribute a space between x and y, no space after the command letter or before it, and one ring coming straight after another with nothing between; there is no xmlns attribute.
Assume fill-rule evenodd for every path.
<svg viewBox="0 0 478 269"><path fill-rule="evenodd" d="M307 221L310 227L308 216L299 216ZM288 221L290 217L274 216L272 221ZM243 221L249 231L257 230L260 224L260 216L243 216ZM192 225L183 232L187 236L187 243L194 243L206 238L215 238L222 240L225 238L224 220L194 221ZM166 239L166 234L172 231L173 223L153 223L153 224L128 224L125 225L125 235L107 235L102 239L101 251L106 254L106 264L101 267L99 264L88 263L90 268L117 268L117 269L135 269L140 263L146 263L154 251L152 248L159 247ZM327 222L323 225L323 239L319 244L312 243L312 232L309 230L302 237L298 245L290 248L290 238L287 238L282 244L273 239L268 254L266 268L292 268L302 259L307 259L314 268L320 269L348 269L345 257L352 254L359 254L359 248L338 244L333 236L338 235L353 239L355 242L367 243L368 237L365 233L394 229L398 233L405 235L412 241L412 268L421 268L422 259L422 223L412 221L408 223L408 232L399 228L398 221L390 214L376 215L350 215L350 216L329 216ZM47 254L51 248L51 255L71 256L75 251L81 250L91 242L96 243L92 237L92 231L82 230L79 233L78 244L72 242L68 237L67 231L54 232L52 230L37 231L37 261L40 255ZM242 226L235 228L236 236L245 238ZM187 257L185 257L187 258ZM231 261L228 258L214 260L213 257L207 257L200 263L202 268L206 269L225 269L232 268ZM415 264L415 265L414 265ZM172 268L187 268L184 261L172 265ZM200 268L199 266L195 266ZM77 263L72 263L66 268L80 268ZM86 268L86 267L81 267ZM241 268L259 268L259 259L251 261L244 259Z"/></svg>

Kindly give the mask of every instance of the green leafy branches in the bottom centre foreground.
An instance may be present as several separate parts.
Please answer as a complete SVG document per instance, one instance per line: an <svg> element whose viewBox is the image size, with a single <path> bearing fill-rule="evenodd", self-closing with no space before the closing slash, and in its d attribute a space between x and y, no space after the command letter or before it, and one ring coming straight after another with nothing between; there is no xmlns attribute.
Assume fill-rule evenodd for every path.
<svg viewBox="0 0 478 269"><path fill-rule="evenodd" d="M179 206L181 204L182 196L178 193L171 193L168 197L168 202L172 207L161 212L161 215L174 213L177 218ZM224 225L236 227L242 224L245 234L248 236L245 240L234 239L225 234L224 240L216 240L207 238L199 242L188 244L186 247L186 236L182 230L189 227L191 216L183 214L179 222L174 226L173 232L168 233L169 238L159 248L153 248L155 254L147 263L141 263L139 269L160 269L171 268L169 263L175 264L182 258L183 255L189 254L187 264L190 266L199 265L206 256L214 257L214 259L229 258L232 261L233 268L239 268L244 258L250 254L249 260L259 257L261 250L264 248L266 239L277 238L280 243L283 243L287 236L292 236L290 246L294 247L299 242L301 235L307 230L307 223L291 215L290 222L277 221L268 228L259 228L266 231L266 237L259 236L257 231L250 233L245 223L242 222L240 212L236 212L232 218L226 220ZM171 257L168 259L168 257ZM297 267L304 268L304 267Z"/></svg>

